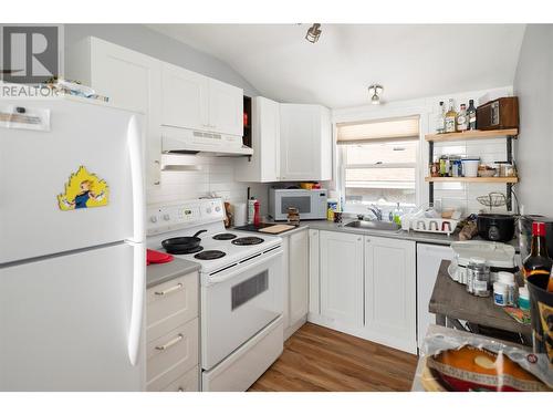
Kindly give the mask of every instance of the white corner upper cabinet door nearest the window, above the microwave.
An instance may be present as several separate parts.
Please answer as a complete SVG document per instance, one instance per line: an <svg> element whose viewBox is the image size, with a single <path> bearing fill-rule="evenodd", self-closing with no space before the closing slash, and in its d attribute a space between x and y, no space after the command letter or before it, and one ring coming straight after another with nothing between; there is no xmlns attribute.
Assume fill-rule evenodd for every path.
<svg viewBox="0 0 553 415"><path fill-rule="evenodd" d="M281 104L280 115L280 180L332 179L330 110Z"/></svg>

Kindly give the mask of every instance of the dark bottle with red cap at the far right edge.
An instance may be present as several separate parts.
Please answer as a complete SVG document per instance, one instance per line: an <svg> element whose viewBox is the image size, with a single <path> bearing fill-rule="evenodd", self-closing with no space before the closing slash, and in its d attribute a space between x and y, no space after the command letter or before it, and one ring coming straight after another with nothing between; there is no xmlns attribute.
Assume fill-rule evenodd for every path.
<svg viewBox="0 0 553 415"><path fill-rule="evenodd" d="M553 260L547 255L547 247L545 245L545 224L533 222L530 255L522 263L524 279L545 289L550 280L552 266Z"/></svg>

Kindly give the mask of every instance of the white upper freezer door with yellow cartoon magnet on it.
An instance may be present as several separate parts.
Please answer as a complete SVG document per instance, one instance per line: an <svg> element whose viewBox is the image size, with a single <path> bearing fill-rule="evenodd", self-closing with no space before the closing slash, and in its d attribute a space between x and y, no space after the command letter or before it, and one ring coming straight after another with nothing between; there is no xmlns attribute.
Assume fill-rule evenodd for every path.
<svg viewBox="0 0 553 415"><path fill-rule="evenodd" d="M69 100L11 104L50 110L51 129L0 127L0 263L122 240L142 242L142 116ZM86 197L95 196L106 197L106 206L59 207L58 196L80 166L108 186L103 196L92 189L81 205L90 206Z"/></svg>

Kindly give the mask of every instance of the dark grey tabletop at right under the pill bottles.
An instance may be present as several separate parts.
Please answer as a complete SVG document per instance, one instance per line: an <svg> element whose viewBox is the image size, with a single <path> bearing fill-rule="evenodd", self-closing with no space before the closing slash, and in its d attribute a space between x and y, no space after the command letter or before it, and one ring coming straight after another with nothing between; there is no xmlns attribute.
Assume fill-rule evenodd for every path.
<svg viewBox="0 0 553 415"><path fill-rule="evenodd" d="M463 284L453 281L448 274L449 263L447 260L441 261L428 305L431 313L531 335L531 325L521 324L512 319L501 307L493 304L492 297L474 297L467 292Z"/></svg>

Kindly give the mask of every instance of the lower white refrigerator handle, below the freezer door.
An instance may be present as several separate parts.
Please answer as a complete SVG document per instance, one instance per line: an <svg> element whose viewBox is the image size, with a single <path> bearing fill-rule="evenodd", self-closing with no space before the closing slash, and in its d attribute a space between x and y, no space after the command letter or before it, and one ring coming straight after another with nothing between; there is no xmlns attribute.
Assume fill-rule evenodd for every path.
<svg viewBox="0 0 553 415"><path fill-rule="evenodd" d="M135 366L140 351L140 336L146 297L146 249L143 243L131 243L133 255L133 303L128 328L128 360Z"/></svg>

